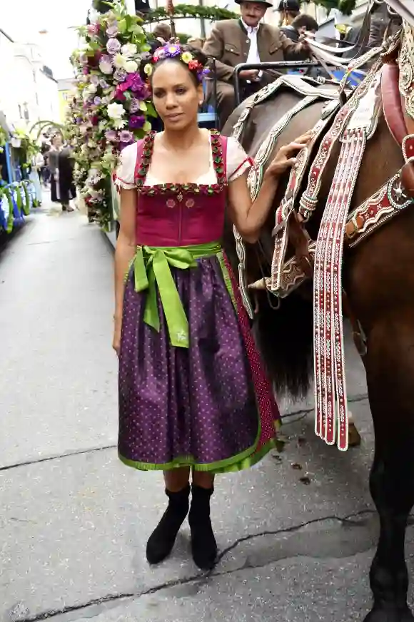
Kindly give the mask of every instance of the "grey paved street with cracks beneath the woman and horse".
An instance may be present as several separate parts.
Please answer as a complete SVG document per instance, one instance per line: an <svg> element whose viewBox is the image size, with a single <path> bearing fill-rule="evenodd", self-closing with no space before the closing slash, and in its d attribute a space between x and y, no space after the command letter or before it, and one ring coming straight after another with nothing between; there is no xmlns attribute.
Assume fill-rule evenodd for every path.
<svg viewBox="0 0 414 622"><path fill-rule="evenodd" d="M353 347L363 445L327 447L311 400L285 403L284 452L217 479L212 575L193 565L187 526L171 559L149 569L165 498L160 474L116 455L112 264L108 240L79 213L32 215L0 251L0 621L362 621L377 525ZM407 549L412 571L411 528Z"/></svg>

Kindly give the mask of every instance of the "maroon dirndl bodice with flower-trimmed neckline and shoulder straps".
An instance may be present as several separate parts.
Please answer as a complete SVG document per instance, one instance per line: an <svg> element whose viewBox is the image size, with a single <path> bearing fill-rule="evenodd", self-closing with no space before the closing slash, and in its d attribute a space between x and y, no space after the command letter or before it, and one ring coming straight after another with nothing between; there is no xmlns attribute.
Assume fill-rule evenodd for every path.
<svg viewBox="0 0 414 622"><path fill-rule="evenodd" d="M139 141L135 169L138 189L136 244L138 246L191 246L221 240L226 210L227 140L211 133L217 183L164 183L145 185L155 133Z"/></svg>

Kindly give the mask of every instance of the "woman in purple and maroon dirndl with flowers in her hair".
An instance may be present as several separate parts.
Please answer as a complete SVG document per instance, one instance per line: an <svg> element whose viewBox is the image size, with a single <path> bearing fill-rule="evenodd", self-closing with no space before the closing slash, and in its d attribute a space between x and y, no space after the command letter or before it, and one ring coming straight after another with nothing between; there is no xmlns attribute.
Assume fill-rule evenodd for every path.
<svg viewBox="0 0 414 622"><path fill-rule="evenodd" d="M256 240L278 176L308 136L279 151L252 205L243 148L198 128L204 65L201 51L170 44L143 67L165 131L126 147L117 172L113 347L119 457L136 469L164 471L168 507L147 559L155 564L171 552L191 492L193 560L211 569L214 475L261 459L279 419L221 250L224 213L246 240Z"/></svg>

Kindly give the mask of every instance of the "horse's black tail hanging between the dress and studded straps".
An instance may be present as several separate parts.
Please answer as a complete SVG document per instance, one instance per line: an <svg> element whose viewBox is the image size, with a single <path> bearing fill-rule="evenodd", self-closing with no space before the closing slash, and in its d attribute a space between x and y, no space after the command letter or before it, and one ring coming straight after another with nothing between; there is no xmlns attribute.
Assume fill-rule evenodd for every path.
<svg viewBox="0 0 414 622"><path fill-rule="evenodd" d="M313 374L312 302L293 292L275 310L266 293L258 292L258 305L256 342L277 392L305 397Z"/></svg>

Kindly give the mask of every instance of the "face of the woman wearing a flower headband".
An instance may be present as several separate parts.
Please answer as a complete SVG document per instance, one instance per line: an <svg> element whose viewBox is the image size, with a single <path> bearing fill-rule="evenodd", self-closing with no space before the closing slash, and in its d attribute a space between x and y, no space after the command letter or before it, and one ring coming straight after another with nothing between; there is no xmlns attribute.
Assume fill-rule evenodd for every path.
<svg viewBox="0 0 414 622"><path fill-rule="evenodd" d="M203 88L196 86L190 71L177 61L164 61L155 68L152 78L153 103L164 127L182 130L197 123Z"/></svg>

